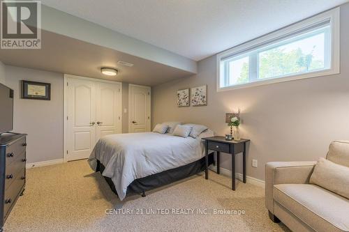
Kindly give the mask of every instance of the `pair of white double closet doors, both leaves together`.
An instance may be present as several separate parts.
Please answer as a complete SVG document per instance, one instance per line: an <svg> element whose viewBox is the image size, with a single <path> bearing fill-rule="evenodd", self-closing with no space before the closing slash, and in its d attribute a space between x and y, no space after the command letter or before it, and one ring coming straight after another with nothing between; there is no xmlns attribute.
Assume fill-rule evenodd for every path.
<svg viewBox="0 0 349 232"><path fill-rule="evenodd" d="M96 141L121 133L121 85L68 77L66 160L86 159Z"/></svg>

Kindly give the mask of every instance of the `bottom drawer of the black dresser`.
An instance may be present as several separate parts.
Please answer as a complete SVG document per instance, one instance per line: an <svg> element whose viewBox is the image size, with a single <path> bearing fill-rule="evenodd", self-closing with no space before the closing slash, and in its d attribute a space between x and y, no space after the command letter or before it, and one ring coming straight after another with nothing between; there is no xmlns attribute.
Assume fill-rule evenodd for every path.
<svg viewBox="0 0 349 232"><path fill-rule="evenodd" d="M23 169L22 173L24 173L24 171L25 170ZM8 216L9 210L13 207L15 200L21 194L20 191L22 191L24 183L25 179L23 179L22 176L17 176L17 178L13 180L13 183L10 185L10 187L8 187L8 189L5 191L5 199L3 200L3 216L5 219Z"/></svg>

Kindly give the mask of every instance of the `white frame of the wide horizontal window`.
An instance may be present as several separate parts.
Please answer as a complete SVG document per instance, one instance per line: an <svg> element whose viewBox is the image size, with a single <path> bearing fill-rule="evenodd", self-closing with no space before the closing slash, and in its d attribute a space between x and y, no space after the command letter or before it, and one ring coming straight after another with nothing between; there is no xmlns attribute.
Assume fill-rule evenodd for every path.
<svg viewBox="0 0 349 232"><path fill-rule="evenodd" d="M285 77L273 77L265 80L258 80L256 82L249 82L246 84L237 84L232 86L221 87L221 59L224 59L227 56L239 56L239 54L248 54L251 52L251 49L260 49L261 47L267 46L270 41L278 42L278 38L283 38L288 34L297 33L297 31L302 31L302 29L306 29L312 25L318 24L319 22L324 22L329 20L329 24L331 26L331 67L325 70L319 70L314 72L306 72L303 74L290 74L285 75ZM282 40L282 39L281 39ZM249 65L253 65L253 63L249 63ZM257 68L258 70L258 68ZM251 72L251 68L250 68ZM221 52L216 55L216 89L218 92L220 91L228 91L237 88L247 88L252 86L260 86L265 84L272 84L278 82L289 82L297 79L305 79L311 77L322 77L326 75L334 75L340 72L340 8L334 8L332 10L328 10L325 13L320 13L313 17L310 17L301 22L297 22L290 26L286 26L283 29L279 29L272 33L269 33L265 36L261 36L260 38L256 38L249 42L246 42L242 45L238 45L236 47L232 47L224 52Z"/></svg>

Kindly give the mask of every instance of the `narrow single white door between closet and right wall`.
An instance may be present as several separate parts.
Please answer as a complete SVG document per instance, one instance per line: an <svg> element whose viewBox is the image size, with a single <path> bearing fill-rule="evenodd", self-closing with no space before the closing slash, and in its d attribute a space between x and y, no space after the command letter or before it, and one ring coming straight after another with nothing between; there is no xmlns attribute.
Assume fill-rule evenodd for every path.
<svg viewBox="0 0 349 232"><path fill-rule="evenodd" d="M150 131L150 87L130 84L128 87L129 127L131 133Z"/></svg>

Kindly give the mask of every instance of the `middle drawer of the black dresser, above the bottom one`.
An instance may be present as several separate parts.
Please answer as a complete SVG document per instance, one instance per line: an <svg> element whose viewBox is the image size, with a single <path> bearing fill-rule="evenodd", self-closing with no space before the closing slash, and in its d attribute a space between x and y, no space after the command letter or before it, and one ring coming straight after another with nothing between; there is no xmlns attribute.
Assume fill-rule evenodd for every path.
<svg viewBox="0 0 349 232"><path fill-rule="evenodd" d="M25 152L17 155L16 160L6 167L5 171L5 190L10 187L11 183L17 178L22 177L22 169L25 168Z"/></svg>

